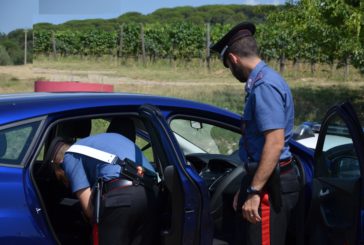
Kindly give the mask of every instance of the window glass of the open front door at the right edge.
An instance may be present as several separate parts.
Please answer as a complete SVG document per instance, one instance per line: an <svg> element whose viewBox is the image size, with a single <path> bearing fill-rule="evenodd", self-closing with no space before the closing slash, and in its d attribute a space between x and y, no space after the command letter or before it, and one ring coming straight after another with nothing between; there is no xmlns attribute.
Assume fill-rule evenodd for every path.
<svg viewBox="0 0 364 245"><path fill-rule="evenodd" d="M349 129L339 117L331 118L323 145L327 171L323 177L358 178L360 165Z"/></svg>

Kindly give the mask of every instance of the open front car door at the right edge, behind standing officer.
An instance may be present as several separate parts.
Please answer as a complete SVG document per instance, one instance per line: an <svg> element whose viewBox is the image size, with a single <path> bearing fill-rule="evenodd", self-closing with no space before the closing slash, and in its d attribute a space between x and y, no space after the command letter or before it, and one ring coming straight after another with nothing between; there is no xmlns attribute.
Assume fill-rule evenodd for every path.
<svg viewBox="0 0 364 245"><path fill-rule="evenodd" d="M309 244L359 244L363 149L363 129L352 106L331 108L315 151Z"/></svg>

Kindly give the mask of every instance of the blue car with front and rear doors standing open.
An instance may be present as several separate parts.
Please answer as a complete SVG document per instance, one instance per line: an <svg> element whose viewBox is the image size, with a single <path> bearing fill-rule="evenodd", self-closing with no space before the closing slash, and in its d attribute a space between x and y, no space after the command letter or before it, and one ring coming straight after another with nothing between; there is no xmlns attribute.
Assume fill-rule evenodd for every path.
<svg viewBox="0 0 364 245"><path fill-rule="evenodd" d="M132 124L126 123L132 121ZM230 244L233 195L245 170L241 116L198 102L122 93L0 96L0 244L90 244L76 197L47 157L76 141L128 128L159 175L160 244ZM290 142L301 202L290 234L302 244L363 243L364 137L348 103L331 108L315 150Z"/></svg>

